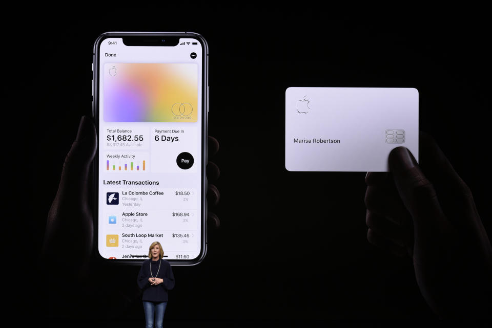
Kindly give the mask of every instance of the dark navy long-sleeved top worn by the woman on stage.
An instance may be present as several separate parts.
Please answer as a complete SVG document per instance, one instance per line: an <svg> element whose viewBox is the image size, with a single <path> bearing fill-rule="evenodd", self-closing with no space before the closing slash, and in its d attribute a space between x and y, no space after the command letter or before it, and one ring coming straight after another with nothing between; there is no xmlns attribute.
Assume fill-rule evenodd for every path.
<svg viewBox="0 0 492 328"><path fill-rule="evenodd" d="M162 283L159 285L150 285L150 267L152 266L152 275L154 278L162 278ZM137 283L138 287L144 292L142 295L142 301L154 301L154 302L167 302L168 301L168 291L174 288L174 275L171 265L165 259L160 259L160 270L159 260L153 261L151 259L146 259L140 268L138 273ZM156 275L157 274L157 275Z"/></svg>

